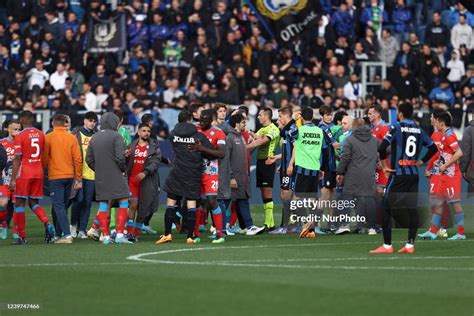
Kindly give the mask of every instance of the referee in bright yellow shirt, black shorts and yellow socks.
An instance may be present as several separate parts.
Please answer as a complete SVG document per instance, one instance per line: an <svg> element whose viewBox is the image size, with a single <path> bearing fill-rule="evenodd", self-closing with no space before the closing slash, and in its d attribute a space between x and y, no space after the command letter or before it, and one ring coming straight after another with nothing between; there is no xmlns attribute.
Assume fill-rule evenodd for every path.
<svg viewBox="0 0 474 316"><path fill-rule="evenodd" d="M257 152L257 188L262 193L263 207L265 210L265 228L273 230L275 221L273 219L272 188L275 178L276 164L265 164L269 157L275 155L275 149L280 142L280 130L272 123L273 112L269 108L262 108L258 114L258 120L262 124L255 135L255 139L247 148L253 150L258 147Z"/></svg>

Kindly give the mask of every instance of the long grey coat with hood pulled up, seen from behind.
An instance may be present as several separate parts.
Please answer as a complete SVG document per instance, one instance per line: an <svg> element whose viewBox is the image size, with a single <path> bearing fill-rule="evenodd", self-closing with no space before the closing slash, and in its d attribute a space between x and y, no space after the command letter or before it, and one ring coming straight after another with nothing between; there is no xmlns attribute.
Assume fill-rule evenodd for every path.
<svg viewBox="0 0 474 316"><path fill-rule="evenodd" d="M94 134L87 148L86 162L95 171L97 201L128 198L125 145L117 132L119 118L107 112L100 119L100 132Z"/></svg>

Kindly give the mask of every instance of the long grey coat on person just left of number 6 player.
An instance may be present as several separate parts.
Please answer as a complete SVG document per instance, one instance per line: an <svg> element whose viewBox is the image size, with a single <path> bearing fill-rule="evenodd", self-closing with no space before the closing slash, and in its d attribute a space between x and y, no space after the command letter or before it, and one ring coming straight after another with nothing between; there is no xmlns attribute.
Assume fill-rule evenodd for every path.
<svg viewBox="0 0 474 316"><path fill-rule="evenodd" d="M374 195L377 146L377 139L367 125L355 128L352 135L346 138L337 168L337 174L345 176L344 193L357 196Z"/></svg>

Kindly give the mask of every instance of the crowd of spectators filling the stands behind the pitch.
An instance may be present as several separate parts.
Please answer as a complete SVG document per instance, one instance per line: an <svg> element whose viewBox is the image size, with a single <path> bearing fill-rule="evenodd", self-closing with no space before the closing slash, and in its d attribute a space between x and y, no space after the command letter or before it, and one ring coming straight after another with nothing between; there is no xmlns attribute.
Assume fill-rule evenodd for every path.
<svg viewBox="0 0 474 316"><path fill-rule="evenodd" d="M410 100L421 124L438 103L455 127L474 111L474 14L455 0L321 0L319 24L278 45L240 0L0 2L0 107L125 113L136 125L192 102L334 110ZM89 20L126 15L127 50L88 53ZM367 72L362 62L384 62ZM78 114L79 113L79 114ZM425 115L427 114L427 115Z"/></svg>

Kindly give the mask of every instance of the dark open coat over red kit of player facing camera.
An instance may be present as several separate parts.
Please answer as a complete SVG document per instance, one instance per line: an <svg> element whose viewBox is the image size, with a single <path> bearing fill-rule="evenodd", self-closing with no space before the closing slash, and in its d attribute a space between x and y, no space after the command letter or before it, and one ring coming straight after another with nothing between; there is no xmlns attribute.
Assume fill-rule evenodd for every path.
<svg viewBox="0 0 474 316"><path fill-rule="evenodd" d="M130 144L130 158L128 159L127 175L130 177L133 170L133 160L138 139ZM140 199L138 203L138 218L145 219L148 215L156 212L160 196L160 174L158 167L161 161L160 145L156 140L150 139L148 153L143 164L143 173L146 177L140 182ZM142 222L142 221L139 221Z"/></svg>

